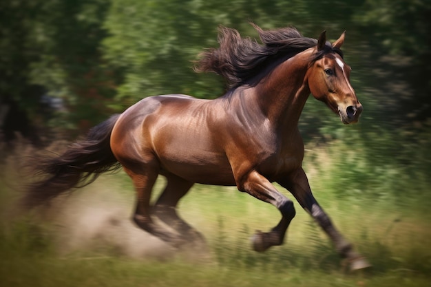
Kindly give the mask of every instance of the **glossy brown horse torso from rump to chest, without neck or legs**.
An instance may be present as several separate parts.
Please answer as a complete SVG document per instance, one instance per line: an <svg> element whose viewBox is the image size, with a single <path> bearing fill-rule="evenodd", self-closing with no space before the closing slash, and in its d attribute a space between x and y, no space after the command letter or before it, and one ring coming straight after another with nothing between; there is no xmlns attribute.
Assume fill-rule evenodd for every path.
<svg viewBox="0 0 431 287"><path fill-rule="evenodd" d="M271 181L299 168L304 146L297 129L278 129L262 114L250 113L255 103L244 94L215 100L183 95L145 98L118 118L112 151L123 162L145 157L140 149L151 147L148 152L155 157L143 161L156 160L160 173L202 184L235 185L235 176L242 176L233 173L237 164L256 169ZM131 157L130 149L138 152Z"/></svg>

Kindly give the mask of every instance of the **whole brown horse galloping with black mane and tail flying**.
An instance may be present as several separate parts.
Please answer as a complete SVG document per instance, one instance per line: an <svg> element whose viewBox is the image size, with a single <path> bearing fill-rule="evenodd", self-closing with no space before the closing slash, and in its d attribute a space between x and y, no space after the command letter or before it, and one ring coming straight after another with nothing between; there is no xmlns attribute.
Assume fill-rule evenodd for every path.
<svg viewBox="0 0 431 287"><path fill-rule="evenodd" d="M344 33L331 44L325 32L315 40L295 28L254 27L262 44L220 28L220 47L204 52L197 63L199 72L227 78L230 89L224 96L202 100L173 94L140 100L94 127L61 156L41 161L40 170L50 176L32 185L23 201L26 206L82 187L120 164L136 189L134 222L181 246L202 240L176 213L178 201L193 183L236 185L273 204L282 215L271 231L253 236L255 251L265 251L284 242L295 216L293 202L271 184L278 182L322 226L351 268L369 266L313 197L302 169L304 144L297 127L309 94L339 115L342 123L358 121L362 106L340 50ZM159 174L167 178L167 186L150 206ZM157 224L154 216L176 232Z"/></svg>

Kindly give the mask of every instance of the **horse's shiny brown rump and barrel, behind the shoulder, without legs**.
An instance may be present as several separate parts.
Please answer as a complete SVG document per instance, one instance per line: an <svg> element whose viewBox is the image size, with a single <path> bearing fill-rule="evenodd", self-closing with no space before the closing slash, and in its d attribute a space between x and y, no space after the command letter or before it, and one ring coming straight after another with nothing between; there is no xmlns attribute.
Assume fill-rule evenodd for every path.
<svg viewBox="0 0 431 287"><path fill-rule="evenodd" d="M149 153L155 153L160 162L160 173L173 173L189 182L234 185L229 160L220 145L222 125L229 116L224 104L220 98L200 100L183 95L145 98L118 119L111 137L118 148L113 152L127 160L125 147L151 147ZM134 134L140 133L131 133L134 129L145 133L136 138ZM140 157L142 152L138 153Z"/></svg>

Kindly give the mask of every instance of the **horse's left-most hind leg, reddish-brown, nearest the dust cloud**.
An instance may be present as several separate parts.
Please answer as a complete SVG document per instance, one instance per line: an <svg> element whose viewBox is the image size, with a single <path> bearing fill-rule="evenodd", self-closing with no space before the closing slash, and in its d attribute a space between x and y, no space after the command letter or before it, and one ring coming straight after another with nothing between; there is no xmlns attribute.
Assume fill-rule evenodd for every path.
<svg viewBox="0 0 431 287"><path fill-rule="evenodd" d="M158 177L158 164L156 162L145 164L125 164L122 162L122 164L127 174L132 178L136 189L136 211L133 217L136 225L172 246L182 245L180 236L156 224L151 218L149 202L151 191Z"/></svg>

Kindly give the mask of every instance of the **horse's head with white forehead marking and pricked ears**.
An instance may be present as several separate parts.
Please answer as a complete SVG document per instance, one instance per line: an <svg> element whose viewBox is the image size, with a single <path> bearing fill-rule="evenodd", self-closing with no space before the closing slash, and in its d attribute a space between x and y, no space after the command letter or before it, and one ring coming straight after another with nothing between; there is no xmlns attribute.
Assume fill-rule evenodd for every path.
<svg viewBox="0 0 431 287"><path fill-rule="evenodd" d="M362 105L350 85L350 67L344 63L339 48L344 33L332 45L326 43L322 32L315 47L314 61L308 69L308 87L317 100L322 100L345 124L357 123Z"/></svg>

